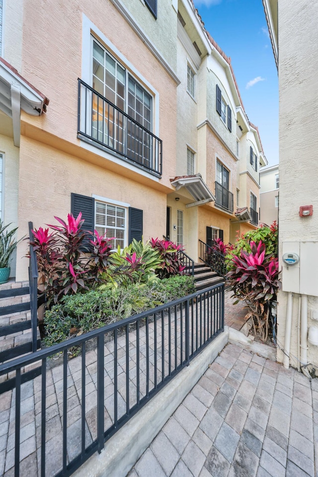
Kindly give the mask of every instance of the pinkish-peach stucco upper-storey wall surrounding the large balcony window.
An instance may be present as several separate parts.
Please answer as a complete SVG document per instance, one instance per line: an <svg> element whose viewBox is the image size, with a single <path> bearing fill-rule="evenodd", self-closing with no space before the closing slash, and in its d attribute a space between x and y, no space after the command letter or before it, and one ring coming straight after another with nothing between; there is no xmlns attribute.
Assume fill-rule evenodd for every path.
<svg viewBox="0 0 318 477"><path fill-rule="evenodd" d="M154 122L156 131L159 122L165 159L161 182L169 185L168 177L175 175L176 83L109 0L50 2L43 8L35 8L32 0L24 2L21 74L50 99L46 114L24 116L25 121L66 142L80 144L77 79L82 76L83 64L90 65L90 59L81 55L82 42L87 43L89 52L90 41L89 34L82 38L83 13L128 60L134 75L140 74L157 91L159 111L154 111Z"/></svg>

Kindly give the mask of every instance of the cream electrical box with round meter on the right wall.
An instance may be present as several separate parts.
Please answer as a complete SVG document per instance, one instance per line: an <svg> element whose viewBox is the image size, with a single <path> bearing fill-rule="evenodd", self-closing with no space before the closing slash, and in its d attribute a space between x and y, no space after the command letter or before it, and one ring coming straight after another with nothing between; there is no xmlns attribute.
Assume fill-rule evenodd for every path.
<svg viewBox="0 0 318 477"><path fill-rule="evenodd" d="M283 261L282 290L318 297L318 241L283 242L283 256L289 254L299 261Z"/></svg>

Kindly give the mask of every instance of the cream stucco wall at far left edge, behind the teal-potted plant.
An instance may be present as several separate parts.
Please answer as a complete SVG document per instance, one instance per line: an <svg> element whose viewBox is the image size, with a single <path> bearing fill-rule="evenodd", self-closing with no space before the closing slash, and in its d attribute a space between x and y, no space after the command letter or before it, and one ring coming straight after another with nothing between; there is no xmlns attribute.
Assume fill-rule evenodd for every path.
<svg viewBox="0 0 318 477"><path fill-rule="evenodd" d="M2 205L3 205L3 224L11 224L9 229L18 226L18 186L19 186L19 148L13 145L12 138L0 135L0 154L3 155L2 184ZM15 276L16 252L12 255L10 263L10 276Z"/></svg>

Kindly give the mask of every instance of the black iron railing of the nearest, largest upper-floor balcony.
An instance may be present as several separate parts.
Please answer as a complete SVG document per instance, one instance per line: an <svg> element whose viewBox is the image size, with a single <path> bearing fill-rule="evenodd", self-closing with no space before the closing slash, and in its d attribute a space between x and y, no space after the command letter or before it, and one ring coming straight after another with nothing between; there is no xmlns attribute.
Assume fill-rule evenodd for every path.
<svg viewBox="0 0 318 477"><path fill-rule="evenodd" d="M161 139L84 81L78 79L78 82L78 137L160 176Z"/></svg>

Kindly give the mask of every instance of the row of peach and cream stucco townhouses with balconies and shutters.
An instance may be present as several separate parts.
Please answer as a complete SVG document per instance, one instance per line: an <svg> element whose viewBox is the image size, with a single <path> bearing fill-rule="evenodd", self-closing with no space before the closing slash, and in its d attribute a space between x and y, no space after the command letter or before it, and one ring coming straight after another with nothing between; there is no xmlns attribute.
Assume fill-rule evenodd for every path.
<svg viewBox="0 0 318 477"><path fill-rule="evenodd" d="M81 211L114 247L168 236L197 261L257 227L259 133L192 0L1 7L1 217L19 238Z"/></svg>

